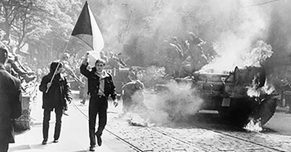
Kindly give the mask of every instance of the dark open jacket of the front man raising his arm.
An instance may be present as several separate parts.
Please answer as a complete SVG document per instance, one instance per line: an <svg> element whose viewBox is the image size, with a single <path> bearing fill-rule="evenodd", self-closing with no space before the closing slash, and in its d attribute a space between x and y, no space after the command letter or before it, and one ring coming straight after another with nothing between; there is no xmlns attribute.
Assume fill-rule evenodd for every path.
<svg viewBox="0 0 291 152"><path fill-rule="evenodd" d="M99 91L99 85L100 85L100 77L95 74L96 67L92 68L92 71L87 70L88 62L86 65L82 64L80 67L81 74L86 76L88 78L88 93L90 95L95 95ZM109 77L105 77L105 84L104 84L104 94L106 96L106 99L108 99L108 96L110 95L113 100L116 99L116 92L115 92L115 85L113 83L112 76L107 73Z"/></svg>

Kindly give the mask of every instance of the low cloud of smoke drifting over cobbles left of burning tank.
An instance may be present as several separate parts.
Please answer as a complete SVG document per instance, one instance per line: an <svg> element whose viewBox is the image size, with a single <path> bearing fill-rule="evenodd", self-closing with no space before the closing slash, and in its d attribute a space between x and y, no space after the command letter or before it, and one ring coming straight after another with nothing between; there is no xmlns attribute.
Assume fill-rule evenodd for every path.
<svg viewBox="0 0 291 152"><path fill-rule="evenodd" d="M149 120L156 125L186 120L188 116L198 112L203 102L194 92L194 89L191 89L191 83L168 82L163 91L145 92L144 104L148 109L141 106L131 107L129 116L140 122ZM141 102L139 93L132 96L134 103ZM138 117L131 112L138 113L142 119L137 119Z"/></svg>

